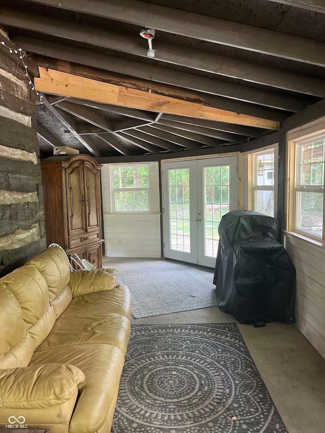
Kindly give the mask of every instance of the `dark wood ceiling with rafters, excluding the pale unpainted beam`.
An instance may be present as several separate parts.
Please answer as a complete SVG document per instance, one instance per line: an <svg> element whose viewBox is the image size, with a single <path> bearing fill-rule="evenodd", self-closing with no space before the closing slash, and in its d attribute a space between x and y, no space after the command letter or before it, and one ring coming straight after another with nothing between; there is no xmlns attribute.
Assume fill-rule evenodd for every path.
<svg viewBox="0 0 325 433"><path fill-rule="evenodd" d="M322 0L3 0L0 23L39 66L281 122L325 97L324 12ZM43 156L58 145L102 157L245 150L271 132L44 96Z"/></svg>

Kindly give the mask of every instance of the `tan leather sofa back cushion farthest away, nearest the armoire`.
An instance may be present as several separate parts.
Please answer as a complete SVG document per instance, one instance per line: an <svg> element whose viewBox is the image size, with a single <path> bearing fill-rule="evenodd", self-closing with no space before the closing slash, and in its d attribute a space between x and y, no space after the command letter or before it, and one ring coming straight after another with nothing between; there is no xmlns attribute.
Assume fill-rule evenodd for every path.
<svg viewBox="0 0 325 433"><path fill-rule="evenodd" d="M34 264L45 278L50 301L53 301L69 283L69 261L66 253L58 247L50 247L42 251L27 263Z"/></svg>

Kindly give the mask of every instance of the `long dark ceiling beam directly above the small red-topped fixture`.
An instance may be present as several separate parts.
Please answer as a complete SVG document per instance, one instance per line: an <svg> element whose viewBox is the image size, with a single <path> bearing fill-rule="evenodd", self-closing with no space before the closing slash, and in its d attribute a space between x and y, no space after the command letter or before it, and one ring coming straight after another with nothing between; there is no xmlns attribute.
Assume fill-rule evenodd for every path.
<svg viewBox="0 0 325 433"><path fill-rule="evenodd" d="M325 66L325 44L321 42L138 0L29 1L139 26L150 25L156 30L188 38Z"/></svg>

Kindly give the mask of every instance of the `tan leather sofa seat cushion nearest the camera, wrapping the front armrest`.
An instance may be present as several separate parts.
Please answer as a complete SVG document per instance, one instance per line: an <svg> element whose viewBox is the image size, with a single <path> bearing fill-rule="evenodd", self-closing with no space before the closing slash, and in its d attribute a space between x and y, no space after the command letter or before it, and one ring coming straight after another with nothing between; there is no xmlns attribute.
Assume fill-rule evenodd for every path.
<svg viewBox="0 0 325 433"><path fill-rule="evenodd" d="M111 404L115 405L124 356L108 344L83 344L36 352L30 362L69 363L85 375L70 423L70 433L94 433L104 425Z"/></svg>

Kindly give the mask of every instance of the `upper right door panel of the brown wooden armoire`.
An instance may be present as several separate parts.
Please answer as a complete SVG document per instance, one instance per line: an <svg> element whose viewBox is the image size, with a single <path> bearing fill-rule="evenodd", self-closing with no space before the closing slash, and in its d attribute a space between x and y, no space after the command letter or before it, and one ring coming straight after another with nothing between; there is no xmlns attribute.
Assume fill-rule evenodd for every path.
<svg viewBox="0 0 325 433"><path fill-rule="evenodd" d="M99 172L85 162L85 197L87 231L100 229L100 177Z"/></svg>

